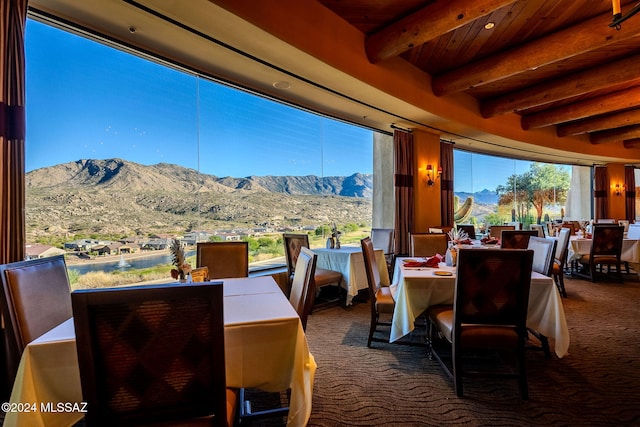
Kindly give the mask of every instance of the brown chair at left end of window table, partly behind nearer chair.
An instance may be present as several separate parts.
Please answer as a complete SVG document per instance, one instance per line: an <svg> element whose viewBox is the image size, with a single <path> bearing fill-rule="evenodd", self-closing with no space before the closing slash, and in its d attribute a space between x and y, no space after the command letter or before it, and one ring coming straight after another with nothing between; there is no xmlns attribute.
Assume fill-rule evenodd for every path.
<svg viewBox="0 0 640 427"><path fill-rule="evenodd" d="M284 233L282 235L282 241L284 243L284 253L285 258L287 260L287 271L289 274L289 283L293 283L294 273L296 270L298 255L300 254L301 248L309 248L309 235L308 234L295 234L295 233ZM341 294L341 282L342 282L342 273L339 271L328 270L326 268L318 268L316 266L315 273L313 275L313 292L312 294L315 296L316 292L320 291L320 288L324 286L336 286L337 287L337 297L328 299L322 304L316 304L315 300L311 303L310 313L313 311L314 306L326 306L326 305L335 305L336 303L340 303L340 294Z"/></svg>

